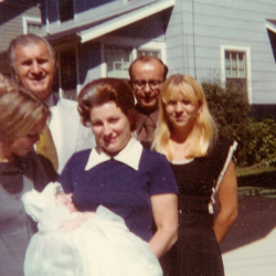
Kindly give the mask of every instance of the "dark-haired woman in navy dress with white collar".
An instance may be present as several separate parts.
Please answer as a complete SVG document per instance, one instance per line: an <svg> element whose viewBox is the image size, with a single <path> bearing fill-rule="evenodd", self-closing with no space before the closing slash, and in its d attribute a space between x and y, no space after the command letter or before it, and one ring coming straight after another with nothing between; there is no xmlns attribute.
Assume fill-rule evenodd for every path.
<svg viewBox="0 0 276 276"><path fill-rule="evenodd" d="M178 188L166 157L142 148L131 136L131 88L123 79L96 79L82 89L78 110L97 147L68 161L59 179L65 193L73 193L78 211L95 211L102 204L120 215L160 257L177 241Z"/></svg>

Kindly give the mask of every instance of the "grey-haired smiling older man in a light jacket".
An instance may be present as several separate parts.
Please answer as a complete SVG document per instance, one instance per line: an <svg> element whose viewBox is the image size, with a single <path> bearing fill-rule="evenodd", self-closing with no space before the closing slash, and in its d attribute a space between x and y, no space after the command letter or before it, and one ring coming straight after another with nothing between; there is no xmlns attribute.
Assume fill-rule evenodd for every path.
<svg viewBox="0 0 276 276"><path fill-rule="evenodd" d="M19 84L33 92L52 113L49 132L57 160L46 158L52 161L56 172L61 173L74 152L93 147L92 130L81 124L75 102L60 99L52 94L56 61L54 51L45 39L34 34L19 35L10 43L9 57ZM51 180L54 180L52 172L49 173Z"/></svg>

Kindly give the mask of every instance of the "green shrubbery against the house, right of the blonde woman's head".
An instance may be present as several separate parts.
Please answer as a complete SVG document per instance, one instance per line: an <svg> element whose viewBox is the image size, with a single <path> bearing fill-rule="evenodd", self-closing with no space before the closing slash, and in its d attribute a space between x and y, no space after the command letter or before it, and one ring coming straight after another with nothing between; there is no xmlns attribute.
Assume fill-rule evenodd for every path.
<svg viewBox="0 0 276 276"><path fill-rule="evenodd" d="M234 139L238 167L253 166L276 157L276 123L257 121L251 117L251 106L244 93L217 84L202 83L210 112L223 138Z"/></svg>

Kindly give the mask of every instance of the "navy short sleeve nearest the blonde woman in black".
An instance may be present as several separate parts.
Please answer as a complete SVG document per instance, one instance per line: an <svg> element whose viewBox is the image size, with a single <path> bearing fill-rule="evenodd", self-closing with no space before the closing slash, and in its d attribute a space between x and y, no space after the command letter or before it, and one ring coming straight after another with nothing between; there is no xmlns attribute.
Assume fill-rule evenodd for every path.
<svg viewBox="0 0 276 276"><path fill-rule="evenodd" d="M150 195L174 193L178 194L178 184L170 163L164 156L150 151L151 162L155 164L150 183Z"/></svg>

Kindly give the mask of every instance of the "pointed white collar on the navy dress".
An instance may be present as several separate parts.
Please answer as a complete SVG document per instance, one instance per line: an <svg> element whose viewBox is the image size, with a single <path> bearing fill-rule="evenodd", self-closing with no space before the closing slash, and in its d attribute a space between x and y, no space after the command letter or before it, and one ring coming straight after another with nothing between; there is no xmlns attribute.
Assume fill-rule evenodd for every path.
<svg viewBox="0 0 276 276"><path fill-rule="evenodd" d="M127 146L115 157L115 160L123 162L130 168L138 170L141 158L142 146L135 138L130 138ZM104 152L99 146L92 149L85 170L88 171L99 163L110 160L112 157Z"/></svg>

